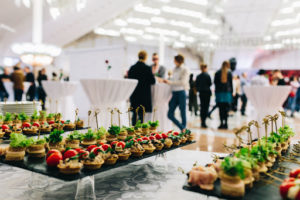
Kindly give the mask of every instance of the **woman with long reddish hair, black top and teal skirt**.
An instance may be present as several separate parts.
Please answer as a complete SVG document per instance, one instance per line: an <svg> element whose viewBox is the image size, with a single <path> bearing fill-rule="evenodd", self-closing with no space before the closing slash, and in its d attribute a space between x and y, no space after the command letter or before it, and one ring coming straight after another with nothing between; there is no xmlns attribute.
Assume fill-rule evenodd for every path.
<svg viewBox="0 0 300 200"><path fill-rule="evenodd" d="M222 67L215 74L216 103L219 108L220 126L219 129L228 129L228 111L232 103L232 74L228 61L222 63Z"/></svg>

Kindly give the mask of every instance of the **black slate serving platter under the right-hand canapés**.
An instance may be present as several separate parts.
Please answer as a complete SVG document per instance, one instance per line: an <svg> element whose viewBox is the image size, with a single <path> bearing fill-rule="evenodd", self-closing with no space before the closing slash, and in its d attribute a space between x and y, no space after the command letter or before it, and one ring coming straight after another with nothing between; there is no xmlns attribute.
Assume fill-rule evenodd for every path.
<svg viewBox="0 0 300 200"><path fill-rule="evenodd" d="M286 153L283 155L284 157L287 157L289 153ZM297 158L299 160L299 157ZM275 176L280 179L287 178L287 175L283 175L283 173L288 174L291 169L299 168L299 164L287 162L287 161L276 161L273 165L273 167L270 170L270 173L272 176ZM279 170L282 173L276 173L274 170ZM202 190L198 186L191 186L188 181L183 185L183 189L191 192L197 192L203 195L207 196L214 196L222 199L243 199L243 200L266 200L266 199L272 199L272 200L280 200L282 199L279 194L279 185L280 181L275 180L267 175L262 175L260 177L260 180L253 183L252 188L246 188L245 196L243 198L233 198L224 196L221 194L221 181L220 179L216 180L214 183L214 189L212 191Z"/></svg>

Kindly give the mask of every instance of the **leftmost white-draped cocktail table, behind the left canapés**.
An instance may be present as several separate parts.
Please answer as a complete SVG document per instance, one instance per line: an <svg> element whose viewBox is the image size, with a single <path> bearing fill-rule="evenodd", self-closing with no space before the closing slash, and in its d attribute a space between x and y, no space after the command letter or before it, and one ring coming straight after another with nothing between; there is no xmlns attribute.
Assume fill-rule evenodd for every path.
<svg viewBox="0 0 300 200"><path fill-rule="evenodd" d="M78 82L43 81L43 88L47 94L49 112L60 112L64 119L75 120L75 103L73 95Z"/></svg>

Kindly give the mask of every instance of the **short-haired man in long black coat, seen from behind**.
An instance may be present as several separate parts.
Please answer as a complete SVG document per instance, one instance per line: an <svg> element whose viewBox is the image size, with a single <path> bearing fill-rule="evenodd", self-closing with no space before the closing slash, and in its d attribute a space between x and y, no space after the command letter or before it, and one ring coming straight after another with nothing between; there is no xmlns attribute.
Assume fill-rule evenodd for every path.
<svg viewBox="0 0 300 200"><path fill-rule="evenodd" d="M131 66L128 71L129 79L137 79L138 84L130 96L130 104L133 108L132 125L136 124L136 109L142 105L145 107L146 112L152 112L152 97L151 85L155 84L156 80L152 73L151 68L146 65L147 52L140 51L138 53L138 61L135 65ZM141 122L143 119L143 110L140 108L138 112L138 119Z"/></svg>

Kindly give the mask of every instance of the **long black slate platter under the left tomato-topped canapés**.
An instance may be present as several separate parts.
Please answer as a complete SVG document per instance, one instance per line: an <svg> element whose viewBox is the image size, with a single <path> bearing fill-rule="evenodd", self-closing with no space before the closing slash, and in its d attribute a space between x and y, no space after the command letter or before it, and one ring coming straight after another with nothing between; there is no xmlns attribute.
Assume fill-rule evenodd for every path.
<svg viewBox="0 0 300 200"><path fill-rule="evenodd" d="M14 166L14 167L19 167L19 168L26 169L26 170L29 170L29 171L32 171L35 173L39 173L39 174L43 174L43 175L46 175L49 177L57 178L57 179L60 179L63 181L74 181L74 180L82 179L84 177L95 175L95 174L98 174L98 173L101 173L101 172L104 172L107 170L122 167L124 165L128 165L130 163L143 160L145 158L149 158L152 156L158 156L158 155L161 155L168 151L172 151L174 149L181 148L181 147L193 144L193 143L195 143L195 141L186 142L185 144L181 144L176 147L171 147L170 149L162 149L161 151L154 151L152 154L144 154L143 156L141 156L139 158L130 157L126 161L117 161L117 163L115 165L103 165L98 170L91 171L91 170L82 169L79 174L75 174L75 175L74 174L72 174L72 175L62 174L59 172L59 170L57 168L48 167L46 164L45 158L33 159L33 158L29 158L28 156L25 156L23 161L11 162L11 161L6 161L5 158L2 156L2 157L0 157L0 163L4 163L4 164Z"/></svg>

